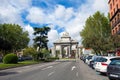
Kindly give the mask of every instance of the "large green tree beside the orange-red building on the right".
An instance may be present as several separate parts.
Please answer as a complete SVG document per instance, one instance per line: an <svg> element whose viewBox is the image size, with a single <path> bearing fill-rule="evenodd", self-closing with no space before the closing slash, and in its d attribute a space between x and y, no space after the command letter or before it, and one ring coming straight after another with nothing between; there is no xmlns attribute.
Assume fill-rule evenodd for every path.
<svg viewBox="0 0 120 80"><path fill-rule="evenodd" d="M80 32L85 48L92 48L96 53L104 53L110 49L111 28L108 17L99 11L90 16Z"/></svg>

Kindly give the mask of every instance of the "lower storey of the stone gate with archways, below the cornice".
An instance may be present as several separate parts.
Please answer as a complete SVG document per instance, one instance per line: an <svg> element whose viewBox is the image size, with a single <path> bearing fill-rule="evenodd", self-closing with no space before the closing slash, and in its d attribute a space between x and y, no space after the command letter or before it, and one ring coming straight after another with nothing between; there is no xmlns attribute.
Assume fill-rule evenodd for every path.
<svg viewBox="0 0 120 80"><path fill-rule="evenodd" d="M76 58L78 55L77 44L55 44L55 55L59 58Z"/></svg>

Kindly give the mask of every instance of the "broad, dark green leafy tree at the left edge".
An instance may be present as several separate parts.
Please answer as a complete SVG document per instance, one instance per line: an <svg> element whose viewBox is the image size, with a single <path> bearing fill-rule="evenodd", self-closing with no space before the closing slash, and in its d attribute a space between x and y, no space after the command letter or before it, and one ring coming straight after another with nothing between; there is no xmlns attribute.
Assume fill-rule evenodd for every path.
<svg viewBox="0 0 120 80"><path fill-rule="evenodd" d="M0 24L0 50L17 51L28 45L28 32L17 24Z"/></svg>

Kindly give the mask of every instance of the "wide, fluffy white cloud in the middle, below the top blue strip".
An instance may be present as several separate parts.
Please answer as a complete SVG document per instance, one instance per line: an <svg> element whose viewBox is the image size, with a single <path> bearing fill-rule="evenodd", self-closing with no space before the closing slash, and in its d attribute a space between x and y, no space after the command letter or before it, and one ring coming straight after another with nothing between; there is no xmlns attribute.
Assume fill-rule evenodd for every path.
<svg viewBox="0 0 120 80"><path fill-rule="evenodd" d="M32 23L52 23L63 27L64 23L68 22L73 16L73 8L65 8L62 5L57 5L55 10L50 13L45 13L42 8L32 7L29 9L29 15L26 18Z"/></svg>

